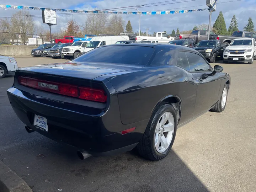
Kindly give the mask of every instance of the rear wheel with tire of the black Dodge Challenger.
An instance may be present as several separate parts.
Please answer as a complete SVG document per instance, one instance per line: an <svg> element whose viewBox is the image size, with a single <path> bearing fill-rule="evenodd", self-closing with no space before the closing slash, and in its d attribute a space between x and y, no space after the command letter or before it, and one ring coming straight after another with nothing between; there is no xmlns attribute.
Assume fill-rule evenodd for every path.
<svg viewBox="0 0 256 192"><path fill-rule="evenodd" d="M164 159L174 143L176 130L177 116L174 107L169 103L159 105L137 145L139 154L152 161Z"/></svg>

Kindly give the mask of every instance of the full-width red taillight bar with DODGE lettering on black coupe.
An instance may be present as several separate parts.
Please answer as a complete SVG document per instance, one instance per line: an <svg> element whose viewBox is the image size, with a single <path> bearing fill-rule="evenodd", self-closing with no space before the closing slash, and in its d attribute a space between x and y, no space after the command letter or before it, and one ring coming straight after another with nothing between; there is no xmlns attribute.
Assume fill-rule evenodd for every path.
<svg viewBox="0 0 256 192"><path fill-rule="evenodd" d="M18 83L27 87L32 87L34 89L40 89L43 91L48 91L70 97L77 97L84 100L97 101L102 103L105 103L107 101L107 95L105 91L101 89L78 87L76 85L45 81L22 76L18 77Z"/></svg>

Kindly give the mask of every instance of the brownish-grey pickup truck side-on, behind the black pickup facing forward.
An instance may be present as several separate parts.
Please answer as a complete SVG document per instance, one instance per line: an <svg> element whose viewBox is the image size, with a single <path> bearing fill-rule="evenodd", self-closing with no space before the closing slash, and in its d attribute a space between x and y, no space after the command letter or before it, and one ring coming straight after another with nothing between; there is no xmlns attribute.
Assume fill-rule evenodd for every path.
<svg viewBox="0 0 256 192"><path fill-rule="evenodd" d="M194 30L191 34L176 34L174 36L174 40L177 39L189 39L192 38L198 43L202 40L207 40L208 30ZM218 35L214 32L210 31L210 38L209 39L219 39Z"/></svg>

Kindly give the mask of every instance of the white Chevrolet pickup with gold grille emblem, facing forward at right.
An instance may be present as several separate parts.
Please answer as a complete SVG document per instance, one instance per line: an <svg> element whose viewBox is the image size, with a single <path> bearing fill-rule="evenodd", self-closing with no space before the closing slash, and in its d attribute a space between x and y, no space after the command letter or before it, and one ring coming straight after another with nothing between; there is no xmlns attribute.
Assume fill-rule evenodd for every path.
<svg viewBox="0 0 256 192"><path fill-rule="evenodd" d="M252 64L255 55L256 41L254 38L234 39L223 52L223 63L237 61Z"/></svg>

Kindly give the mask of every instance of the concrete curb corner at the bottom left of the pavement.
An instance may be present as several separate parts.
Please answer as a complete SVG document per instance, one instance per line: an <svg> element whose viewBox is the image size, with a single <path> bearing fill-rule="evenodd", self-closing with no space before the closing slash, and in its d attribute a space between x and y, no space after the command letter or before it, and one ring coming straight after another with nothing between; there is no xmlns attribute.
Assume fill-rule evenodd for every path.
<svg viewBox="0 0 256 192"><path fill-rule="evenodd" d="M0 161L0 192L32 192L27 183Z"/></svg>

